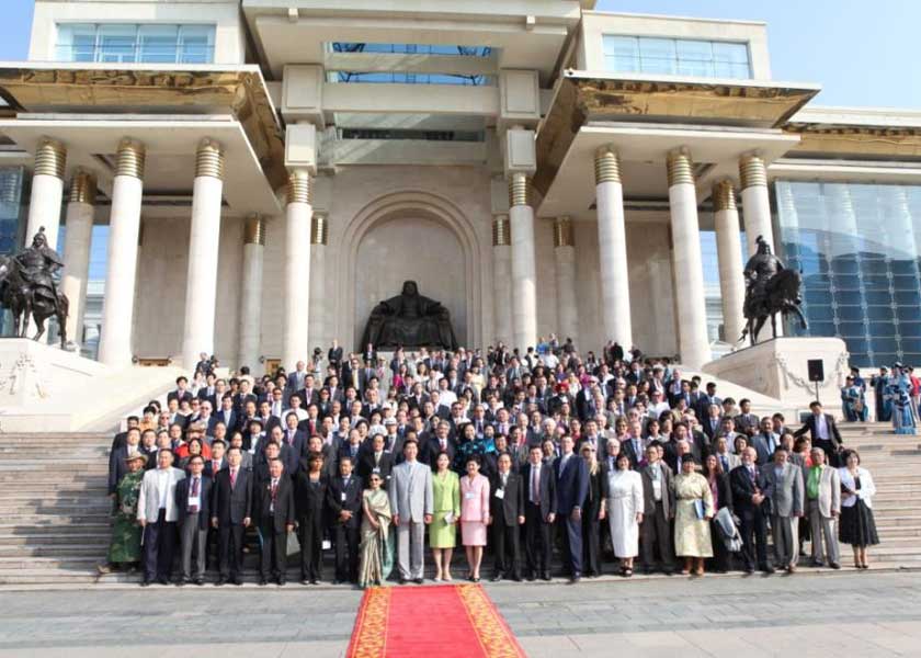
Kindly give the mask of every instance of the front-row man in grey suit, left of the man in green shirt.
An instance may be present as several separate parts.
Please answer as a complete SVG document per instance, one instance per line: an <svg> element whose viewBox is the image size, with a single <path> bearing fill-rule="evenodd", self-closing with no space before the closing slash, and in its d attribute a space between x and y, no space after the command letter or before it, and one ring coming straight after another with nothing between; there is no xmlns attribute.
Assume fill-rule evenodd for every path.
<svg viewBox="0 0 921 658"><path fill-rule="evenodd" d="M771 530L776 567L788 574L799 561L799 518L803 517L803 472L787 461L787 450L774 451L774 463L765 466L764 495L771 500Z"/></svg>

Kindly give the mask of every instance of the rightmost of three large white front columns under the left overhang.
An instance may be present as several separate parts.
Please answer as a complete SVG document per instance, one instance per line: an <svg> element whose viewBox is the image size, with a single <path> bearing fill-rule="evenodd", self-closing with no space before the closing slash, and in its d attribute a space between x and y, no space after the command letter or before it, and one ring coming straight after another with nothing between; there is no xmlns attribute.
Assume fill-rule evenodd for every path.
<svg viewBox="0 0 921 658"><path fill-rule="evenodd" d="M204 139L195 154L192 228L189 234L189 276L185 282L182 362L189 370L195 367L202 352L214 354L223 197L224 152L219 144Z"/></svg>

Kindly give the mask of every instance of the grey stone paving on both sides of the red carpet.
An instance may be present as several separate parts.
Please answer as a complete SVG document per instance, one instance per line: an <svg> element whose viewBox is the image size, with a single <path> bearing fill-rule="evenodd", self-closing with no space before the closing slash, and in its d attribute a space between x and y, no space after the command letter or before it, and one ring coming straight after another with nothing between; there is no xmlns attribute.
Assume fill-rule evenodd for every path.
<svg viewBox="0 0 921 658"><path fill-rule="evenodd" d="M921 656L921 572L487 586L532 658ZM361 592L2 591L0 656L342 656ZM424 611L419 612L424 632ZM130 645L128 647L128 645Z"/></svg>

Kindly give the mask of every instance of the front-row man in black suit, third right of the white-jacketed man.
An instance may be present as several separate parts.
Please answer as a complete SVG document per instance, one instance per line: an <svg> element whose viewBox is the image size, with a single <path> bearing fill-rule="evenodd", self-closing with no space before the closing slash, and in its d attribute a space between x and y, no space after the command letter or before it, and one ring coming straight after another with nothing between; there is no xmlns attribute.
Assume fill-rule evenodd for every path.
<svg viewBox="0 0 921 658"><path fill-rule="evenodd" d="M284 474L281 460L269 462L269 479L255 489L255 518L262 537L259 585L269 582L269 575L278 585L285 583L287 571L287 533L294 531L294 483Z"/></svg>

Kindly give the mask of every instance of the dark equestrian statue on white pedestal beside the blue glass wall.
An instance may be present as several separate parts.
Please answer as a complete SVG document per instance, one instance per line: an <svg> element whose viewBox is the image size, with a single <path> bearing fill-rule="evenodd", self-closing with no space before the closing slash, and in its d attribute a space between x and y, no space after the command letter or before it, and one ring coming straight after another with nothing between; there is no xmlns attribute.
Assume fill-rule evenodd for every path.
<svg viewBox="0 0 921 658"><path fill-rule="evenodd" d="M806 318L799 309L803 303L799 296L803 277L799 272L785 268L771 252L771 245L763 236L758 236L755 243L758 250L746 264L746 299L742 306L746 328L739 339L744 340L748 336L751 344L755 343L768 318L771 318L771 330L774 338L777 338L778 313L796 316L803 329L807 328Z"/></svg>

